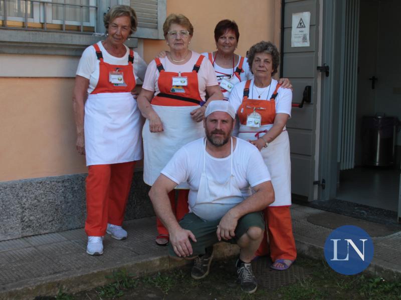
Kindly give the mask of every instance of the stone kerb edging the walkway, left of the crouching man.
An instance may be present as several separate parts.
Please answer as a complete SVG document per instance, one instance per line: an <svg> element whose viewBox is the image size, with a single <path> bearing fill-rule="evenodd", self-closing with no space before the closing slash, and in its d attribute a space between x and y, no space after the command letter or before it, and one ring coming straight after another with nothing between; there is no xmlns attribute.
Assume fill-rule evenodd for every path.
<svg viewBox="0 0 401 300"><path fill-rule="evenodd" d="M215 257L227 258L238 255L237 245L221 242L215 245ZM112 275L113 271L125 268L135 277L146 274L173 269L190 260L177 261L168 258L167 255L144 254L134 257L129 262L118 265L109 263L105 267L97 270L85 272L68 271L64 273L46 276L40 279L28 279L0 287L0 300L32 300L35 296L54 296L62 288L64 292L76 293L83 290L89 290L97 286L102 286L112 282L112 279L106 276Z"/></svg>

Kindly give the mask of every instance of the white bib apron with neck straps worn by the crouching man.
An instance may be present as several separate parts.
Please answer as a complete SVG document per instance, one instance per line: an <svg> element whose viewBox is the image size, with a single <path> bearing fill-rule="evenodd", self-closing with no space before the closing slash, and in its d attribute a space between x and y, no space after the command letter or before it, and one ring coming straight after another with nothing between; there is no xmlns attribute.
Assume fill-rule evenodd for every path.
<svg viewBox="0 0 401 300"><path fill-rule="evenodd" d="M206 173L206 138L204 141L204 165L200 174L196 202L188 202L190 211L208 221L223 217L232 207L244 200L233 172L233 138L231 137L230 175L219 183Z"/></svg>

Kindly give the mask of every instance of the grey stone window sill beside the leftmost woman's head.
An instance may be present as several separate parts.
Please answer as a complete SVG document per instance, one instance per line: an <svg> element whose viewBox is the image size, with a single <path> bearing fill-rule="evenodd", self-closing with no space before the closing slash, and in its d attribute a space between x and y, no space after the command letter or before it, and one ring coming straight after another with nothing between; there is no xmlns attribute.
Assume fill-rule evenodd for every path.
<svg viewBox="0 0 401 300"><path fill-rule="evenodd" d="M0 53L81 56L87 46L102 39L104 36L93 36L90 33L2 28ZM138 39L131 37L125 44L130 48L137 47Z"/></svg>

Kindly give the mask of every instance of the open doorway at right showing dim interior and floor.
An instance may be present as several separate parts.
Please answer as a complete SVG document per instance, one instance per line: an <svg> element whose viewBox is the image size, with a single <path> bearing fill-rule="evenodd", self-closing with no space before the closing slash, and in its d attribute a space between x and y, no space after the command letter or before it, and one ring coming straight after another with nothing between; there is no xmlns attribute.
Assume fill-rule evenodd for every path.
<svg viewBox="0 0 401 300"><path fill-rule="evenodd" d="M399 207L401 134L395 132L395 159L384 157L382 161L377 159L370 161L366 159L368 156L366 153L378 149L377 144L376 148L369 148L374 144L374 140L369 139L380 139L377 133L380 127L377 127L377 123L376 129L369 127L367 120L373 120L374 116L391 116L394 117L394 121L401 119L399 75L401 41L395 38L396 28L401 27L401 18L397 15L401 9L401 1L355 2L359 4L358 15L355 16L359 18L356 32L358 50L357 57L354 57L357 63L356 69L353 68L356 80L351 84L333 81L333 86L338 86L342 90L340 94L345 94L347 83L348 87L353 85L354 96L350 97L351 104L344 102L347 101L346 96L339 99L337 180L335 192L331 193L330 199L385 209L393 212L396 218L397 211L401 209ZM349 58L352 57L349 55L355 53L347 51L345 45L342 55L345 71L342 70L341 77L346 78L346 62L351 61ZM353 111L350 111L349 107ZM392 144L385 146L392 147ZM389 163L391 160L393 163ZM333 181L331 180L331 184ZM399 217L398 212L398 221Z"/></svg>

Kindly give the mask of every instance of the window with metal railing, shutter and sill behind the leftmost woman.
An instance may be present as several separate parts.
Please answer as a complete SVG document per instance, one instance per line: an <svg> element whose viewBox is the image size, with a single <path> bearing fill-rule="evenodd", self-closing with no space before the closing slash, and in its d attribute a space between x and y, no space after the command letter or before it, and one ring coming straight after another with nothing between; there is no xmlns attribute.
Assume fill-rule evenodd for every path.
<svg viewBox="0 0 401 300"><path fill-rule="evenodd" d="M164 38L166 0L0 0L0 47L3 53L80 55L104 38L92 34L105 32L103 15L115 4L137 12L128 46L136 46L135 37Z"/></svg>

